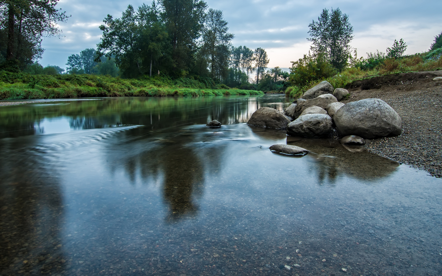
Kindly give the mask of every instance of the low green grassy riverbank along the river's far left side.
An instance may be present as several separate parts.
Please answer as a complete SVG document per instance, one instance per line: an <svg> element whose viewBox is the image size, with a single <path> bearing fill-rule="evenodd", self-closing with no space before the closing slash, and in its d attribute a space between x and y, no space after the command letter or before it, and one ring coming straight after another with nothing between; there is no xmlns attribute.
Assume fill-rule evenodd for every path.
<svg viewBox="0 0 442 276"><path fill-rule="evenodd" d="M164 76L120 79L98 75L30 75L0 72L0 99L94 97L164 97L260 95L262 91L230 89L211 79L170 79Z"/></svg>

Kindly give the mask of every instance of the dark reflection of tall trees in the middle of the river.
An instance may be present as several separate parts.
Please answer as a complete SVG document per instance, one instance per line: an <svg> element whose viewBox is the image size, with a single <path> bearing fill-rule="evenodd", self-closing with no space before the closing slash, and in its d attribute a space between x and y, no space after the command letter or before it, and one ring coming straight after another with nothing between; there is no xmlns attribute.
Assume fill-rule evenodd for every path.
<svg viewBox="0 0 442 276"><path fill-rule="evenodd" d="M168 136L168 139L149 137L137 140L134 144L127 144L127 147L147 149L133 155L124 155L121 151L108 152L111 168L122 163L121 167L133 184L136 183L137 176L145 184L156 183L160 179L163 200L168 205L168 221L193 216L198 212L196 202L202 197L205 174L217 174L221 171L225 151L222 142L216 143L216 147L215 144L195 144L194 141L209 139L198 135L212 135L213 139L217 139L213 130L184 130L178 134L173 132L170 135L161 135ZM122 158L122 154L125 157Z"/></svg>

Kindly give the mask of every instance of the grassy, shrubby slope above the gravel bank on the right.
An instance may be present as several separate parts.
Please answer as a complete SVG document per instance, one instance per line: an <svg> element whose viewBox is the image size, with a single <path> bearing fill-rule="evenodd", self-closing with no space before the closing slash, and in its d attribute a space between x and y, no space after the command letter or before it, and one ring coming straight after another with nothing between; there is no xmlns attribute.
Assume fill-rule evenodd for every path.
<svg viewBox="0 0 442 276"><path fill-rule="evenodd" d="M438 54L438 56L435 56L433 52ZM331 83L331 85L333 85L335 88L343 88L355 80L368 79L374 76L383 76L404 72L442 70L442 56L440 56L442 48L440 49L440 52L437 52L437 50L433 52L415 54L397 59L386 58L380 60L364 60L358 64L354 64L354 66L350 68L344 69L335 76L311 81L304 87L288 87L286 90L286 96L299 98L304 94L305 91L324 80Z"/></svg>

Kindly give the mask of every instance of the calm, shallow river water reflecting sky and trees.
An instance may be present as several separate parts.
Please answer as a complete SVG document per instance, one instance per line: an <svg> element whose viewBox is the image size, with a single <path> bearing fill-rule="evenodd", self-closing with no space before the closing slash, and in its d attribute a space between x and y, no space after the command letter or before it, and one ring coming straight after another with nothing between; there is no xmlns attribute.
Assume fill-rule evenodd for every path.
<svg viewBox="0 0 442 276"><path fill-rule="evenodd" d="M0 275L441 275L442 179L245 124L289 104L0 107Z"/></svg>

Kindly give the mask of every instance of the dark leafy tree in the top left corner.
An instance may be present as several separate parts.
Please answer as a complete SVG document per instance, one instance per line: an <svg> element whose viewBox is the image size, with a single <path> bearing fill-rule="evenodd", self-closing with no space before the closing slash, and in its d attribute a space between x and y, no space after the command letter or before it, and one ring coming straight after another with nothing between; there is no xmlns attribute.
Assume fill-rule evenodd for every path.
<svg viewBox="0 0 442 276"><path fill-rule="evenodd" d="M23 46L41 54L43 37L61 33L57 23L69 16L55 8L59 0L0 0L0 18L8 29L6 60L19 60Z"/></svg>

